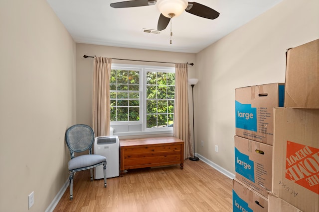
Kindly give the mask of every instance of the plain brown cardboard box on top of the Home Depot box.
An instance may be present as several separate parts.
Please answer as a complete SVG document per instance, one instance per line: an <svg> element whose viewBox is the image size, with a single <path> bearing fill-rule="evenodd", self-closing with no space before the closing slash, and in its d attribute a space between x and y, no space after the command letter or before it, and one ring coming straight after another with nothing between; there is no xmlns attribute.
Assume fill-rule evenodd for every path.
<svg viewBox="0 0 319 212"><path fill-rule="evenodd" d="M319 39L287 50L287 108L319 108Z"/></svg>

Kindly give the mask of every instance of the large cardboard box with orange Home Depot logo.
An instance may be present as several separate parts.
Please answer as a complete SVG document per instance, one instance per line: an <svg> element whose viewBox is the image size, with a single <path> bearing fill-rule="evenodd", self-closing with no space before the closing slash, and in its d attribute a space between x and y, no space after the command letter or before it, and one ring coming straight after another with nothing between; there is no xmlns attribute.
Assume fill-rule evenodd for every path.
<svg viewBox="0 0 319 212"><path fill-rule="evenodd" d="M274 108L272 192L304 212L319 211L319 110Z"/></svg>

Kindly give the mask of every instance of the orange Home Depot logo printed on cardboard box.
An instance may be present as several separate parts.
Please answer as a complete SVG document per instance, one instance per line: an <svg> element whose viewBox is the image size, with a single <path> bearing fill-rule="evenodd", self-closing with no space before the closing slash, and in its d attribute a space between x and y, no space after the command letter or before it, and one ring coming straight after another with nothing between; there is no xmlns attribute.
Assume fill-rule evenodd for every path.
<svg viewBox="0 0 319 212"><path fill-rule="evenodd" d="M286 179L319 194L319 149L287 141Z"/></svg>

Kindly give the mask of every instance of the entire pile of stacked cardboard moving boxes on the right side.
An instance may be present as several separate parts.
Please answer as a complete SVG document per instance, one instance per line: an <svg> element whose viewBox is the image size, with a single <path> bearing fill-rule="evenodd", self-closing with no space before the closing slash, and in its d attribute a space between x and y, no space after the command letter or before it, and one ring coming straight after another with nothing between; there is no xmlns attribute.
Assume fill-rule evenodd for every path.
<svg viewBox="0 0 319 212"><path fill-rule="evenodd" d="M319 39L286 55L285 85L236 89L234 212L319 212Z"/></svg>

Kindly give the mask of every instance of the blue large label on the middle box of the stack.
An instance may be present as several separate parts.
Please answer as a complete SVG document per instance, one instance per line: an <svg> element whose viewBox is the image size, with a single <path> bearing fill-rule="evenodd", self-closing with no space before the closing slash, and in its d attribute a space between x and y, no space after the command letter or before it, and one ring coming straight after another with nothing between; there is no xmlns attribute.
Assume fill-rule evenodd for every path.
<svg viewBox="0 0 319 212"><path fill-rule="evenodd" d="M235 147L235 171L255 183L254 161Z"/></svg>

